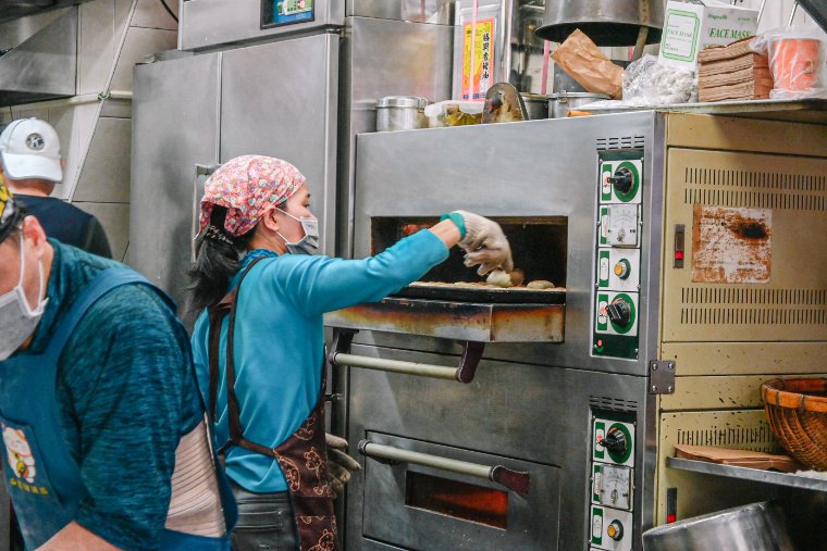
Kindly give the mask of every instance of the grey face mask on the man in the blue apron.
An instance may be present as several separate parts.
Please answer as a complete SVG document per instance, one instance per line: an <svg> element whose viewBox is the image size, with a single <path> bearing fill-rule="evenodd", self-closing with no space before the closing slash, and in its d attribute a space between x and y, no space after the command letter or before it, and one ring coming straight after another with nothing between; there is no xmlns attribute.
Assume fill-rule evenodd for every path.
<svg viewBox="0 0 827 551"><path fill-rule="evenodd" d="M20 236L20 280L14 289L0 295L0 334L3 340L0 342L0 362L7 360L21 345L33 334L40 316L44 315L47 300L44 295L44 265L40 268L40 289L37 293L37 306L32 309L23 289L23 270L25 249L23 246L23 233Z"/></svg>

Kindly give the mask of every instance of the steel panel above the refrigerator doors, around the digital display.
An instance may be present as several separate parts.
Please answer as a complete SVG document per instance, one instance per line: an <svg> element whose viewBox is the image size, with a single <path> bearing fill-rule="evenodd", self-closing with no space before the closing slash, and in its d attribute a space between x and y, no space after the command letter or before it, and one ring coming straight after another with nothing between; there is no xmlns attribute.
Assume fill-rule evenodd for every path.
<svg viewBox="0 0 827 551"><path fill-rule="evenodd" d="M262 29L261 0L185 0L182 2L178 46L182 50L196 50L344 25L343 0L316 0L313 3L314 21Z"/></svg>

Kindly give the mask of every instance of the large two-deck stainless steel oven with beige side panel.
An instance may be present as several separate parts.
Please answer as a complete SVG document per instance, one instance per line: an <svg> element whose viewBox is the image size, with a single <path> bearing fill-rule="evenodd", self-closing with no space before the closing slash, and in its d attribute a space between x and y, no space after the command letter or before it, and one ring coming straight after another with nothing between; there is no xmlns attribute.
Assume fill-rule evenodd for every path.
<svg viewBox="0 0 827 551"><path fill-rule="evenodd" d="M554 286L487 288L455 253L328 316L365 467L347 548L640 550L762 494L666 458L774 449L761 380L825 372L825 126L655 112L360 135L355 256L466 209Z"/></svg>

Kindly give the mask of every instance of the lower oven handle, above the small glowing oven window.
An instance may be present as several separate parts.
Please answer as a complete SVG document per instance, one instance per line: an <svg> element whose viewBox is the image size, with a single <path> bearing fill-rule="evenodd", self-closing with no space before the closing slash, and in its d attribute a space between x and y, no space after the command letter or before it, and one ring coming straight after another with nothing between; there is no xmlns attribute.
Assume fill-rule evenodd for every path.
<svg viewBox="0 0 827 551"><path fill-rule="evenodd" d="M447 471L448 473L491 480L523 496L529 492L531 476L520 471L511 471L503 465L480 465L479 463L441 458L440 455L431 455L430 453L403 450L393 446L371 442L370 440L360 441L358 449L359 453L366 458L372 458L378 461L391 464L414 463L415 465Z"/></svg>

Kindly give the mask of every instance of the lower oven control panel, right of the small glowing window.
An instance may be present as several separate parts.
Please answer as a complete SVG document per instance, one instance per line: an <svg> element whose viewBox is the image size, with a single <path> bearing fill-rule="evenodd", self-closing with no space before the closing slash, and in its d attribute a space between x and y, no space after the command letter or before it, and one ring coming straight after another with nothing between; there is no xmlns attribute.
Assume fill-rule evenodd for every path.
<svg viewBox="0 0 827 551"><path fill-rule="evenodd" d="M634 414L595 411L591 433L590 549L631 551Z"/></svg>

